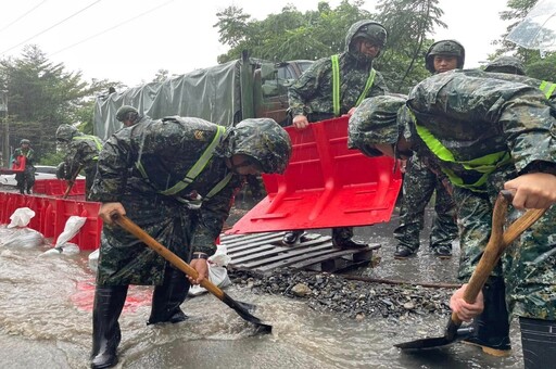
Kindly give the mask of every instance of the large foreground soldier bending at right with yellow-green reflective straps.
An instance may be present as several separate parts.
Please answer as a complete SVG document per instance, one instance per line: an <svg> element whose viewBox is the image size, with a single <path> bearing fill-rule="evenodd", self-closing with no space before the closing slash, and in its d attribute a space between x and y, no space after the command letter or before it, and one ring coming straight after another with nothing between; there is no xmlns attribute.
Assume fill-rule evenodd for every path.
<svg viewBox="0 0 556 369"><path fill-rule="evenodd" d="M500 190L513 189L515 219L522 208L548 208L507 249L502 268L489 278L475 304L452 296L451 307L468 321L483 305L498 305L519 317L526 368L547 368L556 360L556 109L531 78L481 71L450 72L417 85L399 102L397 124L370 117L380 105L365 101L350 120L357 148L384 154L415 150L453 184L458 208L462 259L459 278L468 280L491 233ZM374 100L374 99L369 99ZM502 296L496 276L502 276ZM491 292L488 292L492 290ZM485 292L486 291L486 292ZM505 297L505 298L504 298ZM483 317L481 346L509 351L500 333L507 320L491 306ZM502 320L504 317L502 318Z"/></svg>

